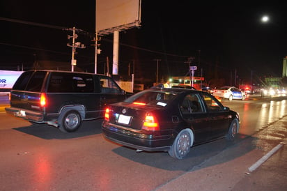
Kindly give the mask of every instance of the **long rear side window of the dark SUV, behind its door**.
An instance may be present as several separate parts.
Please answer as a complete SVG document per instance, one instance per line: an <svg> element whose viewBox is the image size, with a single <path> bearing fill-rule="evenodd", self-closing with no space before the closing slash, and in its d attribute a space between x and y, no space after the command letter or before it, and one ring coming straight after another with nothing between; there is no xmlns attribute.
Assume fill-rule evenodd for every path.
<svg viewBox="0 0 287 191"><path fill-rule="evenodd" d="M93 75L52 72L47 92L91 93L93 90Z"/></svg>

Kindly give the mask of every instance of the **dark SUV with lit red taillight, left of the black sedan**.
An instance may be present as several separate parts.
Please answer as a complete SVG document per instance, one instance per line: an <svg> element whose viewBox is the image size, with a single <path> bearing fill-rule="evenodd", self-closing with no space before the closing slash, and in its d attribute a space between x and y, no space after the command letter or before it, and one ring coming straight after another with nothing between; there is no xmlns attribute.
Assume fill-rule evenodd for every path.
<svg viewBox="0 0 287 191"><path fill-rule="evenodd" d="M102 118L107 104L124 100L127 94L105 75L33 70L17 79L5 109L31 122L74 132L82 121Z"/></svg>

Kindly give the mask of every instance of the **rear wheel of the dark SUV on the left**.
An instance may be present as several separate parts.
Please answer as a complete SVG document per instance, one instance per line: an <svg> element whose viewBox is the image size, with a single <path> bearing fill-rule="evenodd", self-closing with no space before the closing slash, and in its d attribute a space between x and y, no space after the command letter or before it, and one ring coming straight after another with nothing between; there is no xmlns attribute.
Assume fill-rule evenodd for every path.
<svg viewBox="0 0 287 191"><path fill-rule="evenodd" d="M75 132L81 125L81 116L76 110L70 110L59 116L61 132Z"/></svg>

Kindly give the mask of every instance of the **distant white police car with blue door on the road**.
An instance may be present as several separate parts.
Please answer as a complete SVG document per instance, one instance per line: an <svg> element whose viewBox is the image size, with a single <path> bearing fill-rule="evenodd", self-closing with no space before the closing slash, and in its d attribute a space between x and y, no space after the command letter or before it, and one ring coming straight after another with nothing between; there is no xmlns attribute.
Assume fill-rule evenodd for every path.
<svg viewBox="0 0 287 191"><path fill-rule="evenodd" d="M213 91L213 95L219 98L226 98L228 100L245 100L246 93L234 86L223 86Z"/></svg>

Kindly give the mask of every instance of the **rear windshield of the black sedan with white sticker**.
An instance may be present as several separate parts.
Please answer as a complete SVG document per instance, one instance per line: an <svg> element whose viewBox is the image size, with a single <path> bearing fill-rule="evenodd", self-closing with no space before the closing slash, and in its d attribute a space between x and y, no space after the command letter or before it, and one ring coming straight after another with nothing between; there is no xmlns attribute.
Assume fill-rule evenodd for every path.
<svg viewBox="0 0 287 191"><path fill-rule="evenodd" d="M165 107L173 98L176 93L162 92L162 91L141 91L140 93L132 95L124 102L130 102L139 105L151 105Z"/></svg>

